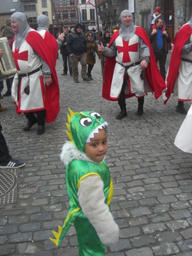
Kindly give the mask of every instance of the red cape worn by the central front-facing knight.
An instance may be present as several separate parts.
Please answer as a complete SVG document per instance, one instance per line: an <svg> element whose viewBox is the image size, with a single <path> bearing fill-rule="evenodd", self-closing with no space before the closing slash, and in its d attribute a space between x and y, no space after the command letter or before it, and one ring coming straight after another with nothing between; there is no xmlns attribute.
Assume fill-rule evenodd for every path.
<svg viewBox="0 0 192 256"><path fill-rule="evenodd" d="M157 67L156 60L154 58L154 52L151 48L151 42L147 36L147 33L144 31L143 28L137 27L135 34L138 35L143 39L145 44L150 49L150 63L147 65L145 69L145 78L147 79L148 85L151 88L151 91L154 91L154 97L157 99L161 96L162 91L165 89L166 85L164 79L161 76L161 73ZM109 44L110 45L114 42L114 40L118 37L119 32L115 32ZM102 97L109 100L109 101L117 101L115 98L111 98L110 91L111 91L111 81L113 78L114 73L114 65L115 65L115 56L114 57L106 57L106 62L104 65L104 83L103 83L103 93ZM130 98L134 96L133 94L125 95L126 98Z"/></svg>

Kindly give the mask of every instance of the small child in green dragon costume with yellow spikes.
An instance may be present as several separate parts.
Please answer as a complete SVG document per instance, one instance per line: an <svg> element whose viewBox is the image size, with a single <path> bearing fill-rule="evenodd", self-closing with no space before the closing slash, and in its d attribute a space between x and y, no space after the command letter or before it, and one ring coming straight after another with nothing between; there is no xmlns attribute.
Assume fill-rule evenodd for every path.
<svg viewBox="0 0 192 256"><path fill-rule="evenodd" d="M104 155L108 150L108 123L94 111L69 109L68 137L61 151L67 165L65 181L70 198L63 227L53 231L57 246L71 224L78 236L80 256L103 256L105 245L118 242L119 228L110 212L113 185Z"/></svg>

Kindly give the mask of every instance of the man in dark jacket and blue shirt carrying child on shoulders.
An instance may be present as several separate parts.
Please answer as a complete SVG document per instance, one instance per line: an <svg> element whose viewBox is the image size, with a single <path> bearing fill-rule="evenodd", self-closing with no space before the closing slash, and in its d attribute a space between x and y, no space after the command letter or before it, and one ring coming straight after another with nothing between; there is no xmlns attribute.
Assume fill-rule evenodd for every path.
<svg viewBox="0 0 192 256"><path fill-rule="evenodd" d="M166 28L163 30L163 25L162 18L157 18L155 20L156 28L149 28L147 33L154 51L154 57L156 62L159 62L160 72L165 80L165 63L169 50L170 35Z"/></svg>

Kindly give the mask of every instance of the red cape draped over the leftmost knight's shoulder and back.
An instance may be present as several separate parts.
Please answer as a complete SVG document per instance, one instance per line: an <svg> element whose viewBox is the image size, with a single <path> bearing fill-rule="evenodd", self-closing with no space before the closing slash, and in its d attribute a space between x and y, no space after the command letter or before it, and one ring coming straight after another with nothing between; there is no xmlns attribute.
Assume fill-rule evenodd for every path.
<svg viewBox="0 0 192 256"><path fill-rule="evenodd" d="M15 38L13 41L14 40ZM52 83L46 86L45 90L46 122L51 123L55 121L60 111L58 76L55 69L58 55L58 43L53 35L50 34L47 38L45 36L45 39L43 39L36 31L29 32L25 40L51 69Z"/></svg>

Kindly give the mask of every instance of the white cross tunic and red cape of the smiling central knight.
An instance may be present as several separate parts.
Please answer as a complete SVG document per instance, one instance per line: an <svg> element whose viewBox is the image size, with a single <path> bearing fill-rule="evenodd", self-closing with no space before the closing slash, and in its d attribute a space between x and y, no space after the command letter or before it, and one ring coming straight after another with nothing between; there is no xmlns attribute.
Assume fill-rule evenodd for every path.
<svg viewBox="0 0 192 256"><path fill-rule="evenodd" d="M118 101L124 81L124 70L127 68L127 86L125 97L141 97L147 91L154 92L155 98L159 98L165 88L164 79L161 77L151 48L151 43L144 29L136 27L135 35L125 42L119 32L115 32L111 38L109 47L114 43L117 48L115 56L106 57L104 66L104 83L102 96L110 101ZM143 44L143 45L142 45ZM144 56L144 45L150 50L150 63L145 69L145 78L141 79L141 57ZM107 50L108 51L108 50Z"/></svg>

